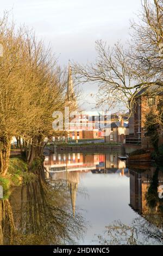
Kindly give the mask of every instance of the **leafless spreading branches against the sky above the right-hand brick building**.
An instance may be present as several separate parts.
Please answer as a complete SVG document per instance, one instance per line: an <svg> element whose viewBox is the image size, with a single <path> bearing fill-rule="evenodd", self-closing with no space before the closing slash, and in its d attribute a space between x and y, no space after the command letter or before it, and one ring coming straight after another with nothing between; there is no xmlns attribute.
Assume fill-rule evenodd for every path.
<svg viewBox="0 0 163 256"><path fill-rule="evenodd" d="M73 64L79 82L98 83L97 106L105 104L122 110L123 105L132 109L141 88L162 88L162 15L162 0L143 0L140 22L131 22L128 44L117 42L110 47L106 42L96 41L95 63Z"/></svg>

